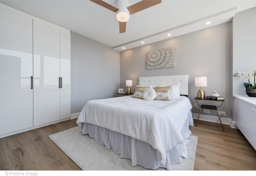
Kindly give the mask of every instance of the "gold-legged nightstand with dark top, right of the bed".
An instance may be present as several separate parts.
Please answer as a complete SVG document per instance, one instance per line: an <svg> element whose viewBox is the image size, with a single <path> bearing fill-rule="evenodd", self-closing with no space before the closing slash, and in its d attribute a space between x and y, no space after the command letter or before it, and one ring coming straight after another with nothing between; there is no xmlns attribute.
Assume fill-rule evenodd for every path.
<svg viewBox="0 0 256 176"><path fill-rule="evenodd" d="M218 106L214 106L214 105L205 105L205 104L199 104L198 101L202 101L202 102L205 102L205 101L210 101L210 102L214 102L216 103L216 105ZM210 98L194 98L194 104L197 108L200 109L200 112L198 114L198 118L197 118L197 122L196 122L196 126L197 126L197 123L198 123L198 120L199 120L199 117L200 117L200 114L201 114L201 110L212 110L212 111L216 111L217 115L218 115L218 118L220 120L220 115L219 115L219 112L220 110L223 110L225 108L225 100L214 100L214 99L210 99ZM222 130L224 130L224 127L222 125L222 122L220 120L220 124L222 126Z"/></svg>

